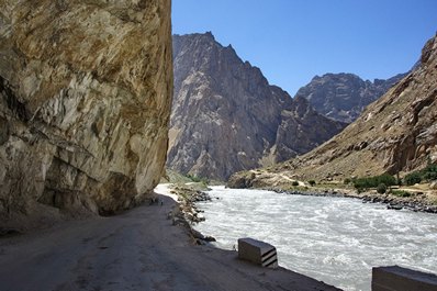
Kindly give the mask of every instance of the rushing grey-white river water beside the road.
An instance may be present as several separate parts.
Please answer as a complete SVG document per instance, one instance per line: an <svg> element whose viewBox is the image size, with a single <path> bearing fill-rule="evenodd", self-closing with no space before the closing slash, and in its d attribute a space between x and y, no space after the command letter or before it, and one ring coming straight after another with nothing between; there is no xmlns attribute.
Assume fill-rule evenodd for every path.
<svg viewBox="0 0 437 291"><path fill-rule="evenodd" d="M373 266L437 273L437 215L386 210L348 198L214 187L195 226L232 249L253 237L278 249L282 267L344 290L370 290ZM218 198L218 199L215 199Z"/></svg>

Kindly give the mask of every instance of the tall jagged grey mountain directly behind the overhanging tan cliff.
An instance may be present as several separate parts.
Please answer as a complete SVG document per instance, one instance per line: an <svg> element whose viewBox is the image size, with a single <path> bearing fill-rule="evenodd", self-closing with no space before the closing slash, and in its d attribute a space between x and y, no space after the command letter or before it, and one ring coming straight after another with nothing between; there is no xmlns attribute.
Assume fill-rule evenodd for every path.
<svg viewBox="0 0 437 291"><path fill-rule="evenodd" d="M306 153L345 124L270 86L212 33L173 36L175 93L167 166L227 179Z"/></svg>

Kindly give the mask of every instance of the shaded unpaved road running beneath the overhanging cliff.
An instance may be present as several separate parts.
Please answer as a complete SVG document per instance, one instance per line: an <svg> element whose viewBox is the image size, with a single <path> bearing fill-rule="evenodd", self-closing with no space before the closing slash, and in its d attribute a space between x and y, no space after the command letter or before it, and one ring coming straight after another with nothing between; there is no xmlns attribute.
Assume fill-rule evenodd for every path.
<svg viewBox="0 0 437 291"><path fill-rule="evenodd" d="M187 230L167 220L173 199L159 199L164 205L1 238L0 290L337 290L240 261L235 251L191 245Z"/></svg>

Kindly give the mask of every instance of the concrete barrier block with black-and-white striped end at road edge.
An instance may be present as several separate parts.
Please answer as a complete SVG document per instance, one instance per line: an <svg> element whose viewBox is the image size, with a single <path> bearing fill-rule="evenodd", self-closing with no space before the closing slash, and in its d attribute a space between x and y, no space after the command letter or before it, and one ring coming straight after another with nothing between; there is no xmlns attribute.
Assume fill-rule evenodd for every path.
<svg viewBox="0 0 437 291"><path fill-rule="evenodd" d="M267 268L278 268L277 249L270 244L254 238L238 239L238 258L261 265Z"/></svg>

